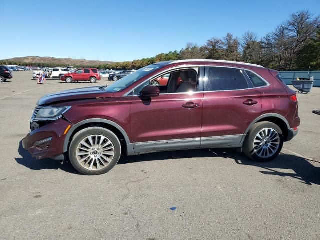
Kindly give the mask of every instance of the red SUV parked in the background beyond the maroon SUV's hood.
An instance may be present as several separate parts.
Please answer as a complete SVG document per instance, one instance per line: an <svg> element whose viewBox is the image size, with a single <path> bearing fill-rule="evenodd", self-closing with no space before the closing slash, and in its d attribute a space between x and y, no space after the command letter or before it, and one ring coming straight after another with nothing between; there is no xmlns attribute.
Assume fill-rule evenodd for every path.
<svg viewBox="0 0 320 240"><path fill-rule="evenodd" d="M95 83L101 80L101 76L96 68L79 68L72 73L64 74L60 77L62 81L71 83L72 81L90 81Z"/></svg>

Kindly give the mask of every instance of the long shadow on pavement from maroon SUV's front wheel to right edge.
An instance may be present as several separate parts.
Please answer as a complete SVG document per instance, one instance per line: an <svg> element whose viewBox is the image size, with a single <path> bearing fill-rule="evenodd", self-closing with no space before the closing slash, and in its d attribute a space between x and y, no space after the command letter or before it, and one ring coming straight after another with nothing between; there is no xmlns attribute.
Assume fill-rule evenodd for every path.
<svg viewBox="0 0 320 240"><path fill-rule="evenodd" d="M320 185L320 167L314 166L312 161L314 163L320 162L285 153L280 153L275 159L269 162L256 162L248 159L243 153L236 152L231 148L196 149L122 156L118 164L193 157L223 157L232 159L239 165L256 166L262 174L292 177L307 185ZM262 168L262 170L260 168Z"/></svg>

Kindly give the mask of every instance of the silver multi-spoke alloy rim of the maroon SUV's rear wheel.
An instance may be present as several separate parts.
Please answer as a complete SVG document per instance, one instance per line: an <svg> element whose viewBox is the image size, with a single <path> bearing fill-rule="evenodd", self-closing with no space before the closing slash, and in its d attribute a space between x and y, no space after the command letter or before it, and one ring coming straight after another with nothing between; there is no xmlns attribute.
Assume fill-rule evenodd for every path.
<svg viewBox="0 0 320 240"><path fill-rule="evenodd" d="M280 146L279 133L273 128L263 128L254 138L254 152L262 158L267 158L278 150Z"/></svg>

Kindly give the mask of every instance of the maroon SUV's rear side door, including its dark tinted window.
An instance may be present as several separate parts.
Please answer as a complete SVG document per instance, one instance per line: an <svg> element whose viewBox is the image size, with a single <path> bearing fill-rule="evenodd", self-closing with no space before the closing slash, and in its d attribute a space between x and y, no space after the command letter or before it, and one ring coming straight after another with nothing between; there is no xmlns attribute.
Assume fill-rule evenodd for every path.
<svg viewBox="0 0 320 240"><path fill-rule="evenodd" d="M236 146L261 114L261 95L244 69L205 68L201 147Z"/></svg>

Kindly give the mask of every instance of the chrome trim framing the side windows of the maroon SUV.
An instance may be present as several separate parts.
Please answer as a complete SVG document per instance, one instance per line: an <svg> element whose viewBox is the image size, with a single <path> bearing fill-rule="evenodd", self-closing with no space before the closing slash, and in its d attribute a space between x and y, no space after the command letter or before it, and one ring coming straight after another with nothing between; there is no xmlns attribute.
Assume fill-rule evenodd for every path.
<svg viewBox="0 0 320 240"><path fill-rule="evenodd" d="M205 61L205 60L203 60ZM219 62L229 62L229 61L219 61ZM232 62L234 63L234 62ZM171 63L169 63L171 64ZM241 63L242 64L242 63ZM246 63L246 64L249 64L249 63ZM254 65L254 64L253 64ZM137 85L136 87L134 87L133 89L127 91L123 96L138 96L138 95L133 95L133 94L130 94L131 92L133 92L133 90L139 86L141 86L142 84L144 84L145 82L147 82L148 80L152 79L152 78L157 78L161 75L163 75L163 73L165 74L166 72L168 71L171 71L171 70L176 70L176 69L186 69L186 68L193 68L193 67L226 67L226 68L235 68L235 69L240 69L240 70L243 70L244 72L245 71L251 71L253 72L254 74L256 74L258 77L260 77L267 85L266 86L258 86L258 87L255 87L252 83L252 86L253 87L250 87L250 88L243 88L243 89L234 89L234 90L217 90L217 91L194 91L194 93L199 93L199 92L203 92L203 93L206 93L206 92L222 92L222 91L241 91L241 90L246 90L246 89L258 89L258 88L263 88L263 87L268 87L270 86L271 84L265 80L262 76L260 76L259 74L257 74L255 71L252 71L250 69L247 69L247 68L244 68L244 67L238 67L238 66L218 66L218 65L180 65L180 66L176 66L176 67L172 67L172 68L169 68L169 69L166 69L164 71L161 71L159 72L158 74L156 74L155 76L152 76L150 78L148 78L147 80L143 81L142 83L140 83L139 85ZM264 67L263 67L264 68ZM199 73L198 73L199 74ZM243 76L245 77L244 73L242 73ZM245 72L246 74L246 72ZM248 79L251 81L250 77L246 74L246 76L248 77ZM202 80L202 79L201 79ZM161 95L167 95L167 94L187 94L188 92L175 92L175 93L161 93Z"/></svg>

